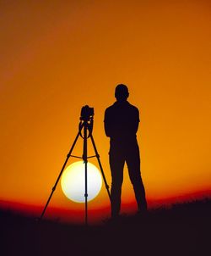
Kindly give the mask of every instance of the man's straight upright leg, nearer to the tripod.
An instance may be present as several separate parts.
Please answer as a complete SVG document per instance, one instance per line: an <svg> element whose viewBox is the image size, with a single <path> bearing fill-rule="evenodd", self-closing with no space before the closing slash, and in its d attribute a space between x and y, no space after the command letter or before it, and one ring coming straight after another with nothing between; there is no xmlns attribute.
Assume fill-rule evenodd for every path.
<svg viewBox="0 0 211 256"><path fill-rule="evenodd" d="M118 216L121 208L121 192L123 181L123 168L125 160L118 153L110 153L111 168L111 217Z"/></svg>

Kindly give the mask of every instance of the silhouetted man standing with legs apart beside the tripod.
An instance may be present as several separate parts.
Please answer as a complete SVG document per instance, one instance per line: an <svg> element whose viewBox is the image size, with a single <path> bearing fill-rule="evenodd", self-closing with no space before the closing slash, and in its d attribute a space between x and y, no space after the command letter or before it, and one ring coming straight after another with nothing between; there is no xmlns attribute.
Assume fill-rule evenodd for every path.
<svg viewBox="0 0 211 256"><path fill-rule="evenodd" d="M111 138L109 160L111 167L111 217L116 218L121 208L123 167L125 162L133 184L138 212L147 210L147 202L140 173L140 155L136 132L139 112L127 102L127 86L118 85L115 90L116 103L105 112L106 136Z"/></svg>

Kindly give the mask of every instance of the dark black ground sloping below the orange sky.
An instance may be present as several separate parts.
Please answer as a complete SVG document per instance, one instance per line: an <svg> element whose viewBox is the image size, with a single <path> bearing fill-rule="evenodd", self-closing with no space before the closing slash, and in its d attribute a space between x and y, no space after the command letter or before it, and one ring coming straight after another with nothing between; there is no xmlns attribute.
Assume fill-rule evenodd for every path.
<svg viewBox="0 0 211 256"><path fill-rule="evenodd" d="M211 255L211 199L85 227L0 211L0 255Z"/></svg>

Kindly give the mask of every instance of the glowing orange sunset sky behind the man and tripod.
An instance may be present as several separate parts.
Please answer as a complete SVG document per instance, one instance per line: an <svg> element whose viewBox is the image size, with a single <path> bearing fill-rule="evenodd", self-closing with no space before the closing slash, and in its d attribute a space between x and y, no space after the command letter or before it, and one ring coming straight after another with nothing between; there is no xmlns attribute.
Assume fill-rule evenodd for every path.
<svg viewBox="0 0 211 256"><path fill-rule="evenodd" d="M209 1L3 1L0 19L0 199L46 203L84 104L95 107L95 142L111 184L103 115L117 83L128 85L140 110L147 197L210 188ZM126 171L122 202L133 200ZM89 205L108 205L104 187ZM51 206L84 209L60 184Z"/></svg>

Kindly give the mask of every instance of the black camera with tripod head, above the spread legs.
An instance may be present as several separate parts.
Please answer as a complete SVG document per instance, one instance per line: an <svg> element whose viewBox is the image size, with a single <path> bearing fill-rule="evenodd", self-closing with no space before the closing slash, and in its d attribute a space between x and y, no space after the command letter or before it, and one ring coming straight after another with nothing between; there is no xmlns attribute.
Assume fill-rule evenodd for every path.
<svg viewBox="0 0 211 256"><path fill-rule="evenodd" d="M93 131L93 125L94 125L94 108L89 108L88 105L85 105L81 109L80 123L78 125L80 136L84 138L84 136L82 135L82 130L84 128L89 131L89 134L87 136L87 138L89 138L89 136L91 136Z"/></svg>

